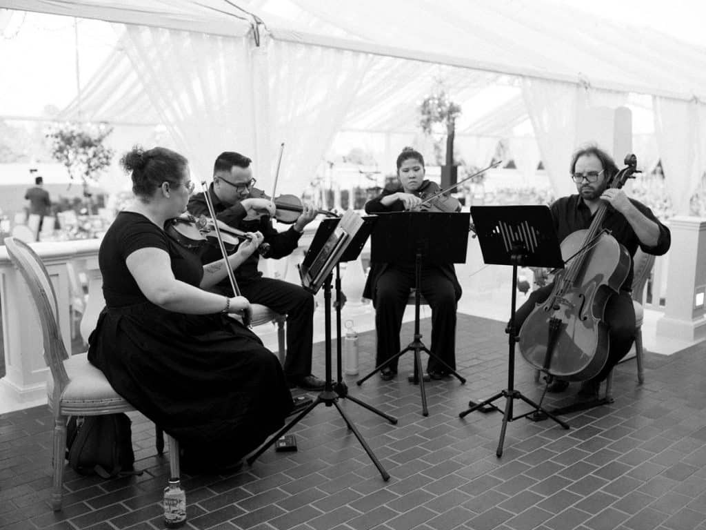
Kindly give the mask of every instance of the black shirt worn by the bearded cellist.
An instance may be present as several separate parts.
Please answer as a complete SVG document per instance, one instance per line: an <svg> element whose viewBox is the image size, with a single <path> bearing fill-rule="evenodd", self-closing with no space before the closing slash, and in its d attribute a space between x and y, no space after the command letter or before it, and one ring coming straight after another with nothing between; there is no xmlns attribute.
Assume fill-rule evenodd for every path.
<svg viewBox="0 0 706 530"><path fill-rule="evenodd" d="M657 245L654 245L654 247L643 245L625 216L610 205L607 206L608 209L603 220L602 228L610 230L611 235L615 237L616 241L623 245L623 247L626 247L630 253L631 260L635 252L638 251L638 247L647 254L654 254L655 256L666 254L666 251L669 250L669 246L671 245L671 233L669 232L669 228L666 228L665 225L659 222L650 208L647 208L647 206L639 201L635 201L635 199L630 199L630 202L647 218L657 223L659 227ZM561 199L554 201L550 209L551 216L554 218L554 227L556 228L559 241L563 241L569 234L576 230L589 228L594 218L590 209L579 195L561 197ZM623 285L629 287L632 284L633 267L630 266L630 273L628 273L628 277L623 282Z"/></svg>

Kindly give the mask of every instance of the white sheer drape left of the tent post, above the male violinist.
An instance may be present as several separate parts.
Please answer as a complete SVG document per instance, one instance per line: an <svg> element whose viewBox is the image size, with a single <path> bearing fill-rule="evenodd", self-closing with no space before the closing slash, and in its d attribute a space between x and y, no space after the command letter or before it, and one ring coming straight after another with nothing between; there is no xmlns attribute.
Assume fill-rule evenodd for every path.
<svg viewBox="0 0 706 530"><path fill-rule="evenodd" d="M126 54L177 151L189 158L193 179L210 182L213 161L222 151L256 153L246 39L125 28Z"/></svg>

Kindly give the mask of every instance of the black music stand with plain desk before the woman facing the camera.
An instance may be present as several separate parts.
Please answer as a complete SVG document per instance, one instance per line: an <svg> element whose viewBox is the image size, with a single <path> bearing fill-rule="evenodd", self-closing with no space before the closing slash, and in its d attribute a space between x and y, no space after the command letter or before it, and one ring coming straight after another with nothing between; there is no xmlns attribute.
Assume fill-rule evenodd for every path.
<svg viewBox="0 0 706 530"><path fill-rule="evenodd" d="M421 341L421 332L419 331L421 266L422 264L443 265L466 261L470 216L468 213L391 212L383 213L378 217L378 225L371 238L371 261L385 264L414 263L414 341L409 343L407 348L376 366L372 372L359 379L357 384L363 384L366 379L392 363L393 360L412 351L414 352L414 374L411 380L415 384L419 383L421 413L423 416L429 416L429 410L426 407L426 390L424 389L424 370L421 367L419 352L424 351L433 357L462 384L466 382L466 379L431 353Z"/></svg>

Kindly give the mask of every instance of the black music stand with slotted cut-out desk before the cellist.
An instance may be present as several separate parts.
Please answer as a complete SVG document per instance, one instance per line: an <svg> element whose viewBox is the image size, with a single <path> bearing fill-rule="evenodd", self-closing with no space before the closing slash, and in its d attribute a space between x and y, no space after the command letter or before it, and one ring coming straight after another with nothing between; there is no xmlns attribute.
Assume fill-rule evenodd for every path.
<svg viewBox="0 0 706 530"><path fill-rule="evenodd" d="M459 414L463 418L473 411L493 405L493 401L505 397L505 415L500 430L500 441L496 455L503 456L503 443L508 421L525 418L538 412L556 421L568 429L568 423L563 422L544 408L527 399L519 390L515 390L515 302L517 300L517 267L551 267L563 269L561 249L556 237L554 220L547 206L471 206L471 215L478 235L478 241L483 252L483 261L493 265L513 266L513 295L510 306L510 322L505 329L508 334L508 388L480 403L469 403L470 408ZM520 416L513 416L513 399L522 399L532 406L532 411Z"/></svg>

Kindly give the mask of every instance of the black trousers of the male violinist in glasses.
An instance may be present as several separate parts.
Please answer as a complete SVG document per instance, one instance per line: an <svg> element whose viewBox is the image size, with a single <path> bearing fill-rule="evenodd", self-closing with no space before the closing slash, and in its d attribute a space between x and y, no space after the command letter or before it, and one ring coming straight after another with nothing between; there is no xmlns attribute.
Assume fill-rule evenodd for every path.
<svg viewBox="0 0 706 530"><path fill-rule="evenodd" d="M239 278L238 288L240 294L251 303L266 305L277 313L287 315L285 375L296 379L311 374L313 295L294 283L263 276ZM229 286L223 290L225 295L232 296Z"/></svg>

